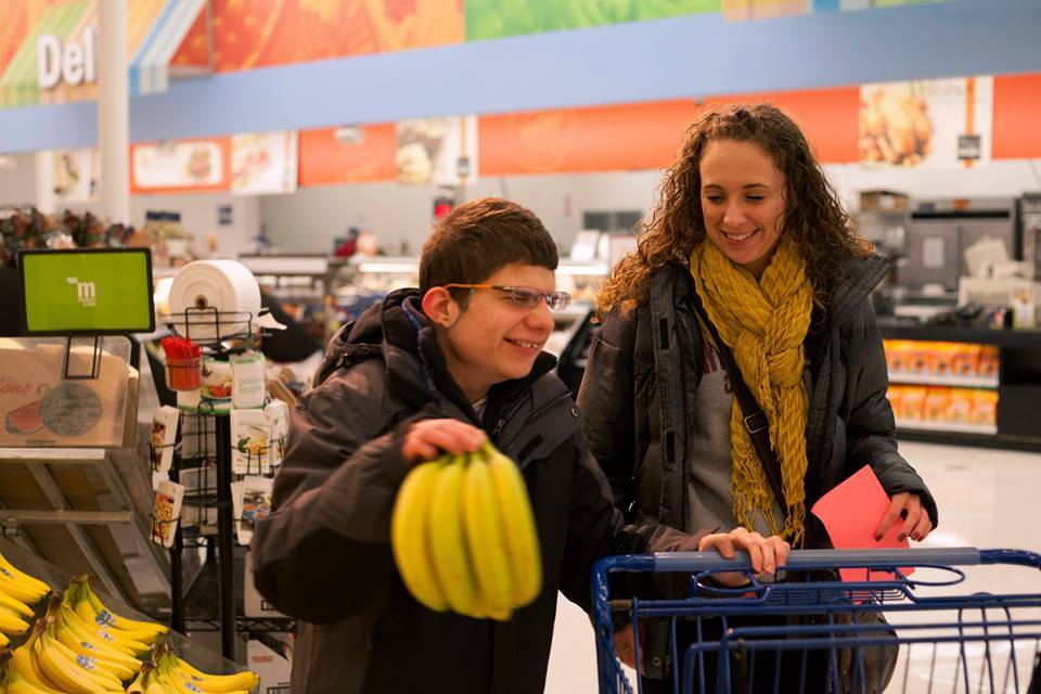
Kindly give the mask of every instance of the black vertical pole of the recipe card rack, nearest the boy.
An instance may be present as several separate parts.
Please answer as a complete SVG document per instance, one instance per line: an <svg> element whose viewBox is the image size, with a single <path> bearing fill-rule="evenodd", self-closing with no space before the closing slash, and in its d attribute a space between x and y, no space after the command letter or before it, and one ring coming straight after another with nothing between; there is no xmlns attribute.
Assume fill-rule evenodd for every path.
<svg viewBox="0 0 1041 694"><path fill-rule="evenodd" d="M235 556L231 512L231 421L215 417L217 439L217 568L220 570L220 651L235 660Z"/></svg>

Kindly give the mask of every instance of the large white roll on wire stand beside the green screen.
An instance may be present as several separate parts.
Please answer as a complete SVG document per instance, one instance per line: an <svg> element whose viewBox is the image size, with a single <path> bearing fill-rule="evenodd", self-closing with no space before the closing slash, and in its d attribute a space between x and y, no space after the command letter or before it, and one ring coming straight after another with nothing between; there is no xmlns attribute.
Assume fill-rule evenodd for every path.
<svg viewBox="0 0 1041 694"><path fill-rule="evenodd" d="M178 270L170 285L170 320L177 332L205 342L245 333L247 319L260 312L260 285L246 266L234 260L195 260ZM219 330L213 312L217 309ZM185 311L189 320L185 325Z"/></svg>

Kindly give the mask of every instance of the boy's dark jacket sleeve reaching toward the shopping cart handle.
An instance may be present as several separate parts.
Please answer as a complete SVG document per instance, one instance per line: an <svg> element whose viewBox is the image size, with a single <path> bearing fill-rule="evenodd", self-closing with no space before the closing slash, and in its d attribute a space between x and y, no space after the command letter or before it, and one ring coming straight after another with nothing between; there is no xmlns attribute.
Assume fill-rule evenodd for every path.
<svg viewBox="0 0 1041 694"><path fill-rule="evenodd" d="M612 501L611 487L590 453L584 436L579 433L577 440L573 439L566 445L575 447L575 463L561 592L591 613L590 571L596 560L615 554L694 552L705 532L692 536L664 525L626 525L621 512ZM622 590L644 596L652 591L659 593L661 589L654 581L654 576L643 575L639 580L628 581Z"/></svg>

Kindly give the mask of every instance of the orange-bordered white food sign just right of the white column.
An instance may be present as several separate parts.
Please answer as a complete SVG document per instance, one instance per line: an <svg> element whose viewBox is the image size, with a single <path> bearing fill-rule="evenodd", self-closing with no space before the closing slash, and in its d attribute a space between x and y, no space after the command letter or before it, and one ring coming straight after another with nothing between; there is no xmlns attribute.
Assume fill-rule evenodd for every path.
<svg viewBox="0 0 1041 694"><path fill-rule="evenodd" d="M231 141L182 140L130 147L130 192L227 191Z"/></svg>

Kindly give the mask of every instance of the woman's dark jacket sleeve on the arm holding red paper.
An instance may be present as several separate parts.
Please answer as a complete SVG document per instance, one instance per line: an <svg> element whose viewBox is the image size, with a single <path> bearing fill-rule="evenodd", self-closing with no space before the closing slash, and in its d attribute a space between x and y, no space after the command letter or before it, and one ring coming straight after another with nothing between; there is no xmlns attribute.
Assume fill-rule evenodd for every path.
<svg viewBox="0 0 1041 694"><path fill-rule="evenodd" d="M875 310L865 299L854 321L854 330L846 336L845 346L850 351L860 351L859 364L850 363L857 373L851 380L853 391L849 420L846 424L846 475L871 463L872 470L888 494L910 491L922 499L922 504L933 520L938 524L936 501L925 481L897 451L896 421L892 407L886 398L889 374L886 365L882 332L875 320ZM862 326L862 327L861 327Z"/></svg>

